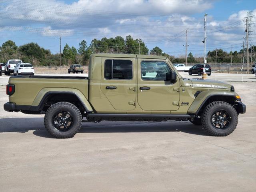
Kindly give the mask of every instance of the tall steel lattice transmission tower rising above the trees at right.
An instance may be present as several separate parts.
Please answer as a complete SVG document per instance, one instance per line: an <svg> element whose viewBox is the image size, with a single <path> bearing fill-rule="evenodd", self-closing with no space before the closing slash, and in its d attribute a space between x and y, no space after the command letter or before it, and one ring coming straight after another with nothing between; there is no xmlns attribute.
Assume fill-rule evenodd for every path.
<svg viewBox="0 0 256 192"><path fill-rule="evenodd" d="M250 58L249 62L253 63L253 62L256 62L256 57L255 57L255 50L254 50L254 47L253 47L253 45L254 45L253 40L255 39L254 33L253 33L254 28L255 28L255 23L254 23L255 16L252 14L252 11L247 12L246 20L247 20L247 29L246 30L248 30L248 38L246 38L246 44L247 44L247 41L248 41L248 45L249 45L249 48L250 48L250 53L248 53L249 54L248 57L246 55L245 59L246 59L246 62L247 62L247 58Z"/></svg>

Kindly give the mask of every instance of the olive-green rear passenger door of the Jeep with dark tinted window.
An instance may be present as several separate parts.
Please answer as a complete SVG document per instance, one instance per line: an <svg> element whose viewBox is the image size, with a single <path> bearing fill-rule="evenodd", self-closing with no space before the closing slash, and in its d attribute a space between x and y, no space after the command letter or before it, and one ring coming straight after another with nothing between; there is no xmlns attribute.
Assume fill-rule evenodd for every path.
<svg viewBox="0 0 256 192"><path fill-rule="evenodd" d="M102 58L101 91L115 110L136 106L136 58Z"/></svg>

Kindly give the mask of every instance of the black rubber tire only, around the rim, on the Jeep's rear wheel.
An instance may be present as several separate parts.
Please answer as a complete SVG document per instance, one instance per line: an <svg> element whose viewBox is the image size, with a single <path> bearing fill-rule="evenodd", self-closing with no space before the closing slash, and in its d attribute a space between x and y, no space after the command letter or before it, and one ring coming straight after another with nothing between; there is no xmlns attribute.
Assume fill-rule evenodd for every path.
<svg viewBox="0 0 256 192"><path fill-rule="evenodd" d="M60 131L54 127L52 119L59 111L70 112L73 120L73 125L67 131ZM46 130L55 138L72 138L79 132L82 125L82 115L79 109L72 103L69 102L58 102L48 108L44 116L44 126Z"/></svg>

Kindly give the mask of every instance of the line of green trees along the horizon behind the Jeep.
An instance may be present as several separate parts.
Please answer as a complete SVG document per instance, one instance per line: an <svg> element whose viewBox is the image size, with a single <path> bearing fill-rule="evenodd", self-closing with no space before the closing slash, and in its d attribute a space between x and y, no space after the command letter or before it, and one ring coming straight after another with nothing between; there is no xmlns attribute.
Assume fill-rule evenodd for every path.
<svg viewBox="0 0 256 192"><path fill-rule="evenodd" d="M249 48L256 50L256 46ZM216 56L217 52L217 56ZM241 56L245 50L239 52L225 52L222 49L209 51L207 62L230 63L231 57L233 63L240 63ZM79 43L79 48L70 47L66 44L62 50L62 65L82 64L88 65L92 53L118 53L118 54L150 54L168 57L172 63L185 63L184 57L175 57L164 53L161 48L154 47L149 50L141 39L134 39L132 36L116 36L115 38L102 38L101 40L93 39L88 45L85 40ZM16 46L15 42L8 40L0 47L0 62L6 62L9 59L21 59L34 66L60 66L60 54L52 54L50 50L40 47L37 43L31 42L22 46ZM192 52L188 54L188 63L203 63L204 58L194 57Z"/></svg>

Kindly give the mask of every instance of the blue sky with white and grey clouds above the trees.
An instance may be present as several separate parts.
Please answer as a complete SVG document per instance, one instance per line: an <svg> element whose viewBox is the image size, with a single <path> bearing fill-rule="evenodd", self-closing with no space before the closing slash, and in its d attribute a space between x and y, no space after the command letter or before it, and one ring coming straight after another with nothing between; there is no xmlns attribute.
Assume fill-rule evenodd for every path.
<svg viewBox="0 0 256 192"><path fill-rule="evenodd" d="M240 50L248 11L256 15L254 0L1 0L0 44L13 40L18 46L37 42L52 53L67 43L78 48L83 39L132 35L149 49L160 47L174 56L184 56L185 30L188 52L203 55L203 17L207 16L207 51ZM17 11L18 10L18 11ZM255 22L255 17L252 19ZM255 28L255 25L252 26ZM251 40L256 44L255 32Z"/></svg>

